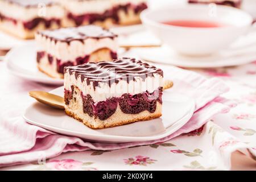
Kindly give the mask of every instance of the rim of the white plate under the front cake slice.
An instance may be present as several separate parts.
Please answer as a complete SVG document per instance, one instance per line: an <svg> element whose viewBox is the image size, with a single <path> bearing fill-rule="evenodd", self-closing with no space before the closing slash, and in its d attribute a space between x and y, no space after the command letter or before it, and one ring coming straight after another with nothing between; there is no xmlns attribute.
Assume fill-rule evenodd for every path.
<svg viewBox="0 0 256 182"><path fill-rule="evenodd" d="M62 88L63 86L60 86L56 89L53 89L51 90L50 93L54 93L57 89L60 89ZM157 139L162 139L162 138L165 138L167 137L168 135L171 135L172 133L174 133L175 131L179 130L181 127L183 127L185 125L185 123L187 123L189 121L189 119L191 119L194 111L195 111L195 101L191 99L191 109L189 110L188 114L185 114L183 115L182 118L180 118L178 121L176 121L175 123L173 123L171 126L167 127L166 129L169 129L170 127L178 127L174 132L172 133L168 133L167 130L165 130L164 132L160 133L160 134L156 134L154 136L146 136L146 137L130 137L130 136L118 136L118 135L98 135L98 134L84 134L84 133L80 133L80 132L77 132L77 131L71 131L71 130L66 130L66 129L60 129L58 127L54 127L54 126L48 126L48 125L44 125L44 124L41 124L41 123L38 123L38 122L35 122L35 121L32 121L31 119L27 118L26 117L26 113L28 110L31 109L31 107L33 107L36 103L38 103L37 101L35 102L32 102L32 104L30 106L28 106L26 108L26 110L24 111L22 117L23 119L32 124L32 125L36 125L36 126L39 126L39 127L42 127L43 129L46 129L46 130L49 130L49 131L52 131L54 133L57 133L57 134L63 134L63 135L69 135L70 133L73 133L73 134L77 134L77 135L86 135L84 137L78 137L77 135L69 135L69 136L72 136L72 137L78 137L78 138L82 138L82 139L87 139L87 140L93 140L93 141L96 141L96 142L102 142L102 143L106 143L106 142L110 142L110 143L127 143L127 142L148 142L148 141L151 141L151 140L157 140ZM68 117L68 116L67 116ZM184 119L185 118L185 119ZM186 119L187 118L187 119ZM184 120L184 121L183 121ZM181 122L183 121L183 122ZM181 122L181 123L180 123ZM59 133L58 131L53 131L53 130L58 130L58 131L62 131L62 132L65 132L65 133L69 133L69 134L64 134L64 133ZM104 137L104 140L94 140L94 139L88 139L88 138L85 138L85 137L96 137L96 138L102 138ZM129 140L129 141L127 141Z"/></svg>

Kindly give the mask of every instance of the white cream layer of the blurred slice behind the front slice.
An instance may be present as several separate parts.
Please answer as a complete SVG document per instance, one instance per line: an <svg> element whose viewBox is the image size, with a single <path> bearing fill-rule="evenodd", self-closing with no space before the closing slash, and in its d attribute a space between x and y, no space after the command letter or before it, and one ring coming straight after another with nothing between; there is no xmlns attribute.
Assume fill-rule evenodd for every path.
<svg viewBox="0 0 256 182"><path fill-rule="evenodd" d="M45 51L64 63L76 60L77 57L90 55L98 49L108 48L113 52L117 52L118 49L117 38L88 38L83 43L79 40L72 40L69 44L61 41L55 42L40 34L36 34L35 38L39 46L39 51Z"/></svg>

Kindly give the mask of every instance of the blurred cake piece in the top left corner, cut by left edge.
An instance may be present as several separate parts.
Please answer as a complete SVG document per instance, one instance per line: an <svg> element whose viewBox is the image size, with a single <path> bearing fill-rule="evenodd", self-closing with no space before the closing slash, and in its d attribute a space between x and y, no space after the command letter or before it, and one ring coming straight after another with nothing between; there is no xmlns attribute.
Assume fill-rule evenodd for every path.
<svg viewBox="0 0 256 182"><path fill-rule="evenodd" d="M61 27L63 16L63 8L54 1L0 1L0 29L22 39L34 38L38 30Z"/></svg>

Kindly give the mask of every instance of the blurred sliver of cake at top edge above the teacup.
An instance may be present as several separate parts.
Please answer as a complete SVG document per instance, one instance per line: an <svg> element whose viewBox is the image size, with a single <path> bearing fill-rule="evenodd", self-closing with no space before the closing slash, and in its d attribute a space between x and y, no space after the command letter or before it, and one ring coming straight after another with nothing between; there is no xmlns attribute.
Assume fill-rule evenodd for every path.
<svg viewBox="0 0 256 182"><path fill-rule="evenodd" d="M216 3L216 5L228 5L240 8L242 0L188 0L189 3Z"/></svg>

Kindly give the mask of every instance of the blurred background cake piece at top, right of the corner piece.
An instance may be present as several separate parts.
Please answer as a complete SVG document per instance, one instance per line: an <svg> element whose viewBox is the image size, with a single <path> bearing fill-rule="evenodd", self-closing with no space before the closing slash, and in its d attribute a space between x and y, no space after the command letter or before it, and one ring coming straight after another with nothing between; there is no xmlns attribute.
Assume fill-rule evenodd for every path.
<svg viewBox="0 0 256 182"><path fill-rule="evenodd" d="M139 15L147 8L145 0L59 0L66 11L65 27L97 24L112 27L113 24L140 23Z"/></svg>

